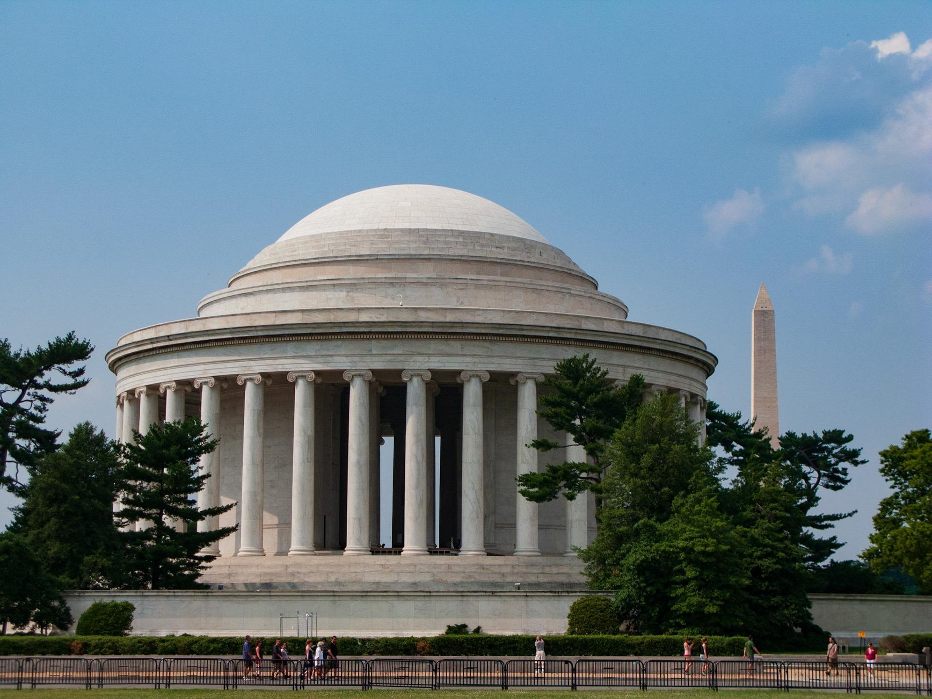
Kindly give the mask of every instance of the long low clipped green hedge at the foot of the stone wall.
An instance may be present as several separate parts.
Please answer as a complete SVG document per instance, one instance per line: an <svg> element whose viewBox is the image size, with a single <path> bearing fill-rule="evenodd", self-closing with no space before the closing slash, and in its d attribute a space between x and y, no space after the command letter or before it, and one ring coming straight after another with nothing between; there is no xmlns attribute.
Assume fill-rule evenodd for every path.
<svg viewBox="0 0 932 699"><path fill-rule="evenodd" d="M683 651L679 636L548 636L549 655L676 656ZM305 638L286 637L292 658L304 656ZM740 656L744 637L708 637L715 657ZM208 636L5 636L0 655L70 655L72 644L86 655L215 655L239 657L242 637ZM263 638L270 656L274 637ZM340 655L506 655L530 656L533 636L340 637Z"/></svg>

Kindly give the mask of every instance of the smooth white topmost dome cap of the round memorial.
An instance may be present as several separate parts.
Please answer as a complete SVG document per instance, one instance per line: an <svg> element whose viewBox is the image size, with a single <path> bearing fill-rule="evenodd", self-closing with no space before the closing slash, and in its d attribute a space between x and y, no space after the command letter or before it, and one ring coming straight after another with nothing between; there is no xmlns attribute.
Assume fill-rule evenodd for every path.
<svg viewBox="0 0 932 699"><path fill-rule="evenodd" d="M546 243L527 221L494 201L436 185L365 189L325 204L278 240L350 230L468 230Z"/></svg>

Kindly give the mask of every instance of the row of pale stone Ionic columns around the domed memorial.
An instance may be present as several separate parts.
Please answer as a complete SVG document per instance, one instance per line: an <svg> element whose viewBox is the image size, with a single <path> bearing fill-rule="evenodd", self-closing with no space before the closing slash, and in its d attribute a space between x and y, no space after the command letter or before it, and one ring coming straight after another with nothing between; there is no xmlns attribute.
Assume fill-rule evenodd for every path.
<svg viewBox="0 0 932 699"><path fill-rule="evenodd" d="M379 402L384 389L372 371L351 369L342 375L349 382L349 423L346 479L346 545L343 555L370 555L378 541L380 493ZM432 374L425 369L402 372L404 401L404 547L401 555L428 555L428 542L435 541L434 431L433 398L437 391ZM321 377L312 371L293 372L285 379L295 385L294 432L291 477L291 542L288 555L314 555L315 492L315 404ZM240 546L238 556L265 555L263 547L265 481L265 390L273 380L267 374L240 374L243 387L242 466L240 484ZM485 454L483 384L486 371L467 370L457 377L462 384L461 487L459 492L459 555L486 555L485 549ZM517 391L515 476L538 470L538 452L530 447L537 439L538 383L541 374L519 373L511 377ZM117 439L129 442L133 430L144 434L158 423L158 394L165 396L165 419L185 417L185 392L200 392L200 419L211 436L218 436L221 418L220 392L225 377L197 377L190 383L168 381L124 391L117 397ZM665 389L651 386L651 391ZM696 421L705 422L705 404L698 396L680 391L680 398ZM693 417L694 416L694 417ZM443 437L442 437L443 439ZM443 442L442 442L443 445ZM567 460L586 459L583 447L571 445ZM200 459L202 473L209 473L199 492L198 506L210 509L220 505L220 455L218 451ZM517 487L515 497L514 555L541 555L538 540L538 504L523 498ZM576 555L588 537L585 495L566 501L566 549ZM200 531L218 528L218 517L199 522ZM219 555L216 543L203 552Z"/></svg>

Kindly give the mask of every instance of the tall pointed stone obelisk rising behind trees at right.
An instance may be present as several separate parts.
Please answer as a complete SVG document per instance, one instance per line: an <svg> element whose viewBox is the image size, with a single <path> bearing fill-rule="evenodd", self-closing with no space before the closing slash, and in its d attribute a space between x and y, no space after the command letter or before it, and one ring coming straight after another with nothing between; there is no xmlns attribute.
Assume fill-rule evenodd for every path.
<svg viewBox="0 0 932 699"><path fill-rule="evenodd" d="M761 282L751 313L751 417L766 428L774 448L780 445L780 411L776 402L776 331L774 304Z"/></svg>

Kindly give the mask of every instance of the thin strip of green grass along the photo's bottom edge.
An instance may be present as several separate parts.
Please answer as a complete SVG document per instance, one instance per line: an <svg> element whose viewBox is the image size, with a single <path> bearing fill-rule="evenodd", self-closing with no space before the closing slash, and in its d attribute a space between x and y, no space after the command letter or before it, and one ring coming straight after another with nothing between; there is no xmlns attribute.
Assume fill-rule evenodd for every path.
<svg viewBox="0 0 932 699"><path fill-rule="evenodd" d="M12 698L36 697L36 699L72 699L72 697L101 697L102 699L164 699L164 697L185 697L185 699L214 699L221 696L235 696L237 693L250 692L259 693L267 690L73 690L73 689L56 689L56 690L0 690L0 697ZM507 699L514 693L533 692L534 699L569 699L570 695L585 696L586 699L645 699L652 694L656 694L658 699L721 699L722 695L727 695L728 699L779 699L786 696L786 693L779 690L721 690L720 692L711 692L709 690L663 690L661 692L640 692L638 690L581 690L573 694L569 690L540 690L536 688L528 689L510 689L507 692L501 690L383 690L375 689L368 692L361 690L310 690L310 696L321 697L321 699L414 699L414 697L424 697L424 699ZM912 692L910 692L912 693ZM826 692L810 692L806 690L793 690L790 692L792 699L824 699ZM877 693L870 694L871 699L891 699L897 697L902 699L903 693Z"/></svg>

